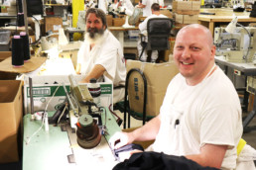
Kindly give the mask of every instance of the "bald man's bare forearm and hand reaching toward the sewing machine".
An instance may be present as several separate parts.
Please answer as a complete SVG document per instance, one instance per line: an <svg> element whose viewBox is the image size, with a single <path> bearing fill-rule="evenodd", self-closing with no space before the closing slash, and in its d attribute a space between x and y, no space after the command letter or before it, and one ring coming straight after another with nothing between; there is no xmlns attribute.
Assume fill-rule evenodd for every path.
<svg viewBox="0 0 256 170"><path fill-rule="evenodd" d="M110 139L110 145L112 148L120 148L126 144L130 144L133 141L147 141L155 139L159 128L161 120L160 116L152 119L145 126L137 128L131 132L117 132ZM116 145L116 141L120 140Z"/></svg>

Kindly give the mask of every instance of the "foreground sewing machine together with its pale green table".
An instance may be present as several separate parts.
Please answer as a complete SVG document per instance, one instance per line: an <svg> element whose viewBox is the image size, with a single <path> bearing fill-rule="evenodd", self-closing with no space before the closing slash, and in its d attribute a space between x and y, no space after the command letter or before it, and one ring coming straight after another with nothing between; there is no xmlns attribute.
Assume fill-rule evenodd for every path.
<svg viewBox="0 0 256 170"><path fill-rule="evenodd" d="M74 78L77 82L80 80L79 77ZM39 79L46 81L43 81L42 76ZM68 79L70 92L67 91L66 85ZM68 79L66 76L58 76L53 80L58 82L61 89L56 96L58 100L53 101L60 101L59 95L66 96L66 93L71 101L71 104L68 104L67 119L59 124L50 124L49 130L46 131L38 130L42 126L41 120L31 121L31 114L24 117L23 169L112 169L118 163L108 144L109 138L116 131L121 131L116 118L108 109L112 103L112 84L99 83L101 106L96 106L88 84L77 84L72 76L68 76ZM64 82L66 89L63 90L63 84L59 82ZM52 86L52 81L49 83L47 86ZM41 85L37 89L46 88L45 86ZM34 96L34 99L37 97ZM55 111L48 112L49 121L54 115ZM95 115L99 117L94 117ZM38 131L36 135L35 131ZM86 138L85 135L89 137Z"/></svg>

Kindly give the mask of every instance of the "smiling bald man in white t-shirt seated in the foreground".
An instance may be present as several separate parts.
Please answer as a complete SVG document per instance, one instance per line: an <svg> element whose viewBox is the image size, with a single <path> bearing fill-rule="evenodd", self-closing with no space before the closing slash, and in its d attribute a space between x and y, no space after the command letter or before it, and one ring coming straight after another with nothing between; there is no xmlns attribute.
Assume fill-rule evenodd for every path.
<svg viewBox="0 0 256 170"><path fill-rule="evenodd" d="M184 27L174 48L180 73L168 86L160 115L132 132L115 133L111 146L155 139L148 150L183 155L201 166L235 169L243 130L241 106L232 82L215 65L214 54L207 28Z"/></svg>

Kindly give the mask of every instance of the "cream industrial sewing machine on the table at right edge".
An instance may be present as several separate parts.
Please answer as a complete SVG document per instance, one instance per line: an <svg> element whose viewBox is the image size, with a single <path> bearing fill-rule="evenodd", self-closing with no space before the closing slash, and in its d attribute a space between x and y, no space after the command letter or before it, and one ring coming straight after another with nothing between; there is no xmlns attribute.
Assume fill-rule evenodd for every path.
<svg viewBox="0 0 256 170"><path fill-rule="evenodd" d="M234 34L224 30L222 27L214 29L216 55L223 55L230 62L256 62L256 28L237 27Z"/></svg>

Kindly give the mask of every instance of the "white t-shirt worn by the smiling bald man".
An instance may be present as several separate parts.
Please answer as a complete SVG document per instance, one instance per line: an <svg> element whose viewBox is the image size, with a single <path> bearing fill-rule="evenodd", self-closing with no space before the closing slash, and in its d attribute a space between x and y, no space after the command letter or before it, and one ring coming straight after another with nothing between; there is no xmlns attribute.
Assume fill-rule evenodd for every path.
<svg viewBox="0 0 256 170"><path fill-rule="evenodd" d="M236 145L243 130L241 106L220 68L195 86L178 74L168 86L160 116L154 151L190 155L198 154L206 143L228 145L221 169L236 167Z"/></svg>

